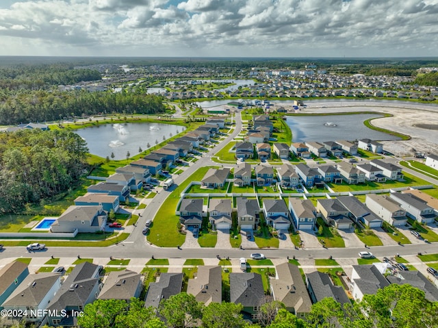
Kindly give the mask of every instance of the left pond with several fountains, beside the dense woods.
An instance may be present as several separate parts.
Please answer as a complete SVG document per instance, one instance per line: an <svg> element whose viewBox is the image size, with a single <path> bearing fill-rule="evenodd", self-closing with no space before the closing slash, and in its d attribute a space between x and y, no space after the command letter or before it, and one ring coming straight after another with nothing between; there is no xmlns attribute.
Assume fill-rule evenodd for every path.
<svg viewBox="0 0 438 328"><path fill-rule="evenodd" d="M140 153L140 148L146 150L158 142L168 139L185 127L162 123L124 123L106 124L87 127L75 131L86 140L90 153L103 158L114 153L114 160L126 159L129 151L130 157Z"/></svg>

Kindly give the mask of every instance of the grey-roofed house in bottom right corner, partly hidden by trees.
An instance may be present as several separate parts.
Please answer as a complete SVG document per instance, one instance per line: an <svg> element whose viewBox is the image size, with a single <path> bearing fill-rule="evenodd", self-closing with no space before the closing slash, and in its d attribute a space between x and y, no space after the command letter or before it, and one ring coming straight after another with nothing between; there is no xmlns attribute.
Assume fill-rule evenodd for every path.
<svg viewBox="0 0 438 328"><path fill-rule="evenodd" d="M418 288L424 292L424 297L430 302L438 302L438 288L431 283L424 275L417 270L399 271L396 275L389 275L387 279L390 283L404 285L407 283L412 287Z"/></svg>

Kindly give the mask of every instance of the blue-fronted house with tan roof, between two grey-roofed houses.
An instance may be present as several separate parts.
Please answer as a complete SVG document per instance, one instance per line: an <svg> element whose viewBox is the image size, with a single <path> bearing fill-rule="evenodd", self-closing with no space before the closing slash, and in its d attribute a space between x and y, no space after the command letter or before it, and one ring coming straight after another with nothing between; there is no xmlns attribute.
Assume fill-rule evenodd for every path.
<svg viewBox="0 0 438 328"><path fill-rule="evenodd" d="M289 197L289 212L296 229L313 230L316 222L316 208L310 199Z"/></svg>

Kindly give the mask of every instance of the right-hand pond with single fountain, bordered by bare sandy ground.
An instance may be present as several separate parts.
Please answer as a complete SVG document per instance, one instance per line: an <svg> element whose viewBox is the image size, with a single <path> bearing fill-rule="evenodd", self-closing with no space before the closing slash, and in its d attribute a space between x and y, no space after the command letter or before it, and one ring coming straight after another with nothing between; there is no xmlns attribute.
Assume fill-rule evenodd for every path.
<svg viewBox="0 0 438 328"><path fill-rule="evenodd" d="M327 116L287 116L286 123L292 130L294 142L359 140L400 140L366 127L363 122L369 118L383 117L378 114L349 114Z"/></svg>

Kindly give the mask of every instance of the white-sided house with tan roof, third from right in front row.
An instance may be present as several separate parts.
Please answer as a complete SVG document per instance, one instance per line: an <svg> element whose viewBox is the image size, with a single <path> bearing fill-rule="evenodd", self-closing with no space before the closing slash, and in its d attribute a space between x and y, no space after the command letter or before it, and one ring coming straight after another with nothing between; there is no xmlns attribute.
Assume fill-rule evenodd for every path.
<svg viewBox="0 0 438 328"><path fill-rule="evenodd" d="M402 227L407 223L406 211L385 194L367 194L365 205L389 225Z"/></svg>

